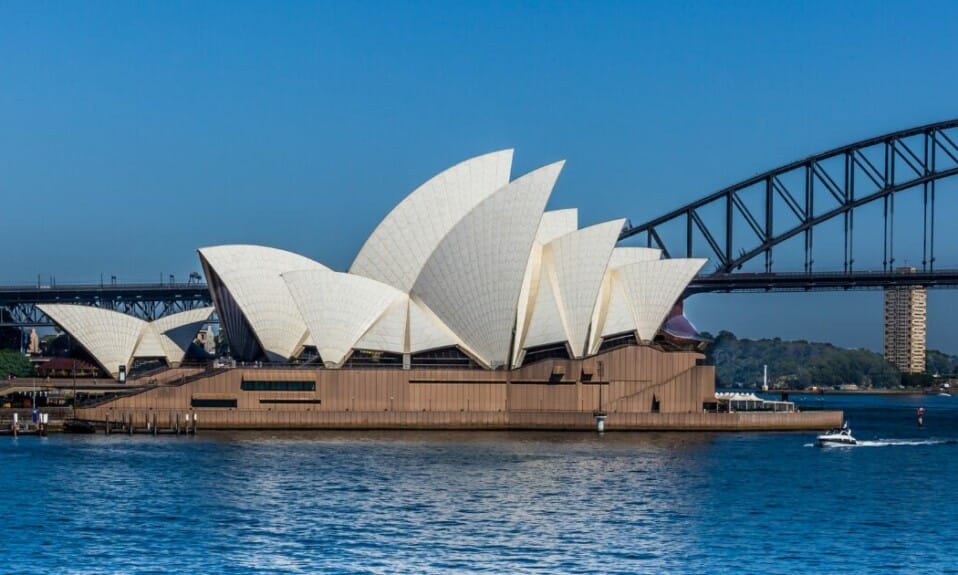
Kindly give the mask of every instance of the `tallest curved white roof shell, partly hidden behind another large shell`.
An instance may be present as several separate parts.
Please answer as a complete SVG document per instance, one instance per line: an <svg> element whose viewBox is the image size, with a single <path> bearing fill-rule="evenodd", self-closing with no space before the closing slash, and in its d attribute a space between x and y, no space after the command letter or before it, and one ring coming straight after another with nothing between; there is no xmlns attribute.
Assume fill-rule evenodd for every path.
<svg viewBox="0 0 958 575"><path fill-rule="evenodd" d="M389 212L349 272L408 293L442 239L480 202L506 186L511 171L512 150L502 150L433 177Z"/></svg>

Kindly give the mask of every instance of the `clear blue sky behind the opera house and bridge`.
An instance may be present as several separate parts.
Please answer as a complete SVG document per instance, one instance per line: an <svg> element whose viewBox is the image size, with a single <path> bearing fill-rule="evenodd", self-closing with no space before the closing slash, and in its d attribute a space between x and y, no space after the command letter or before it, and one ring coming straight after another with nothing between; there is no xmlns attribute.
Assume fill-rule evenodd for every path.
<svg viewBox="0 0 958 575"><path fill-rule="evenodd" d="M0 282L186 278L234 242L345 269L418 184L507 147L514 176L568 161L550 207L641 222L958 117L956 21L949 2L0 0ZM958 352L955 297L931 295L931 347ZM688 309L881 344L879 292Z"/></svg>

